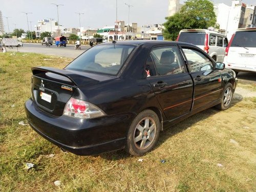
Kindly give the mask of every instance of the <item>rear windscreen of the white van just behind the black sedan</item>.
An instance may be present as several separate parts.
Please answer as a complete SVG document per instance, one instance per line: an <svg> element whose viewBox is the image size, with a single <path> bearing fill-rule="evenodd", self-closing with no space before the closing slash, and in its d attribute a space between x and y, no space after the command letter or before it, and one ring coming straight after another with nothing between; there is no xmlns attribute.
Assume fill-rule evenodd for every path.
<svg viewBox="0 0 256 192"><path fill-rule="evenodd" d="M203 46L205 40L205 32L182 32L178 41L188 42L197 46Z"/></svg>

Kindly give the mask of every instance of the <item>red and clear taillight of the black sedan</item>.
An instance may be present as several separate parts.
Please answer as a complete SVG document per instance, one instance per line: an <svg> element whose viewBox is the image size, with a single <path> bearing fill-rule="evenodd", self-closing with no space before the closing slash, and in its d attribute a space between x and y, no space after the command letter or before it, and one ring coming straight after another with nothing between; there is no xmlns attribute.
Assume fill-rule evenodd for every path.
<svg viewBox="0 0 256 192"><path fill-rule="evenodd" d="M92 103L71 97L65 106L63 115L80 119L92 119L105 116L105 113Z"/></svg>

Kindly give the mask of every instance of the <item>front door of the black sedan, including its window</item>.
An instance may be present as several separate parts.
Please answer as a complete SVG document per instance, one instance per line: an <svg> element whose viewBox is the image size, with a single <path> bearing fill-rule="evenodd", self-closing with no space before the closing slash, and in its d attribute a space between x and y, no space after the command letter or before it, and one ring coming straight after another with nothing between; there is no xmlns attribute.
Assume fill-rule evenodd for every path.
<svg viewBox="0 0 256 192"><path fill-rule="evenodd" d="M196 110L220 98L221 73L214 68L214 61L203 51L185 45L181 47L195 84L192 110Z"/></svg>

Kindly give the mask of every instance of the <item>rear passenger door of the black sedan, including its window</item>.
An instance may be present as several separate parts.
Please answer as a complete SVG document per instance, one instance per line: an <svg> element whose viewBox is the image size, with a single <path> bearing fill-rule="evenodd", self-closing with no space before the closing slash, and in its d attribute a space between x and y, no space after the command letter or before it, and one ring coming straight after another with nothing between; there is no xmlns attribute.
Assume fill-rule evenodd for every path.
<svg viewBox="0 0 256 192"><path fill-rule="evenodd" d="M167 119L172 120L190 112L193 81L177 46L153 48L147 58L146 73Z"/></svg>

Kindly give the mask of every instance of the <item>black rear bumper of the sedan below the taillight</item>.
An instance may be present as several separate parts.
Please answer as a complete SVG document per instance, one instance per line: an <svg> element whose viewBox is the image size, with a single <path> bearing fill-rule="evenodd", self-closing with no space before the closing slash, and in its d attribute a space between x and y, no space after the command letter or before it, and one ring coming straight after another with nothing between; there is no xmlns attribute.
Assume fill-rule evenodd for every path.
<svg viewBox="0 0 256 192"><path fill-rule="evenodd" d="M97 119L50 116L29 99L25 111L30 126L53 144L76 155L95 155L125 147L125 136L133 114Z"/></svg>

